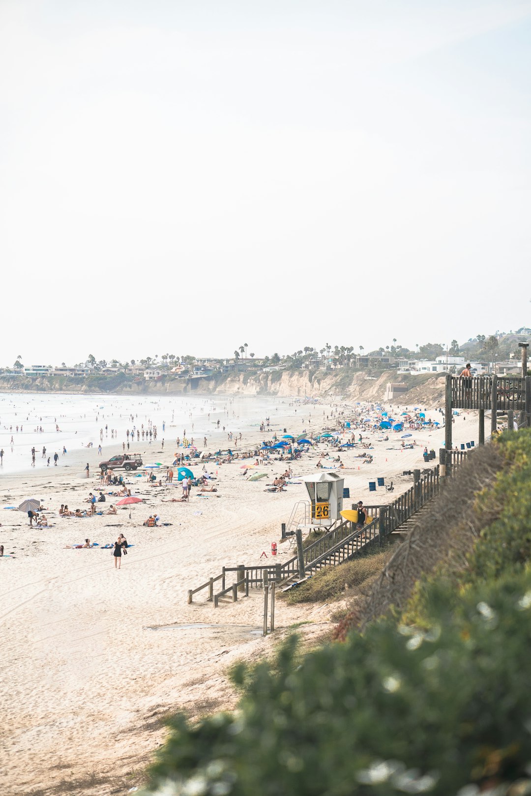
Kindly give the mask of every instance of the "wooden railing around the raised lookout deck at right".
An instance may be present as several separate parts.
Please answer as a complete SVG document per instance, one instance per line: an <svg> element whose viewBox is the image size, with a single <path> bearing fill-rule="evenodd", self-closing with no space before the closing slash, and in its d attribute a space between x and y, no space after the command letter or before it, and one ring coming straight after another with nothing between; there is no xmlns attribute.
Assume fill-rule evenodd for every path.
<svg viewBox="0 0 531 796"><path fill-rule="evenodd" d="M525 410L526 390L530 393L531 385L529 384L529 377L523 378L521 376L452 376L452 408L492 409L493 384L495 407L497 409L502 412L508 409Z"/></svg>

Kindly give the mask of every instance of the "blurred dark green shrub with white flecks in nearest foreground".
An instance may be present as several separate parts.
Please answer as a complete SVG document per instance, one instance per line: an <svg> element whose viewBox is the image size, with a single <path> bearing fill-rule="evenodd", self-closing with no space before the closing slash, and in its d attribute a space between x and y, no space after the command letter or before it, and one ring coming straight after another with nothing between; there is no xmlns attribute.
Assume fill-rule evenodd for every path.
<svg viewBox="0 0 531 796"><path fill-rule="evenodd" d="M240 666L236 712L171 721L150 792L448 796L526 780L531 577L470 589L451 621L439 597L427 633L388 618L302 665L290 638L273 665Z"/></svg>

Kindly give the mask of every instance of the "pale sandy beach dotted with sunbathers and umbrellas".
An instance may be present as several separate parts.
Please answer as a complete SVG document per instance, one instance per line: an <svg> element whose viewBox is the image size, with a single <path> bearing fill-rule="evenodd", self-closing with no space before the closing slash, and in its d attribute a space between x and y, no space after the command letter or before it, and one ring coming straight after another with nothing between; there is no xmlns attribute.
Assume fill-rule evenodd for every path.
<svg viewBox="0 0 531 796"><path fill-rule="evenodd" d="M348 418L356 409L339 401L306 408L286 400L271 412L271 428L277 435L284 427L294 435L304 430L315 434L323 426L340 423L338 412ZM264 419L257 410L246 420L235 452L271 439L271 431L256 427ZM239 434L243 425L234 419L232 431ZM182 436L181 428L172 431ZM381 431L364 433L367 436L373 445L371 464L361 464L357 448L341 452L351 497L347 505L354 500L391 501L411 486L412 478L402 471L424 468L424 446L438 451L443 441L441 431L418 431L406 440L415 439L416 447L404 450L400 433L391 432L387 441ZM173 460L169 438L166 431L163 451L160 439L151 444L154 462ZM462 414L455 422L454 440L470 439L477 444L477 426L472 413ZM119 438L114 451L107 443L105 453L121 447ZM314 472L324 453L321 444L290 462L292 480ZM93 454L96 449L91 451L91 462L96 462ZM68 468L2 474L2 505L18 505L23 497L34 495L43 501L52 525L30 528L28 518L14 510L2 510L0 517L0 543L10 556L0 560L0 784L6 794L127 793L139 784L143 767L162 742L163 716L178 709L197 716L231 708L236 697L225 677L229 664L267 654L296 622L310 622L306 633L316 637L330 628L330 607L287 607L279 600L277 630L263 638L257 590L217 610L205 603L205 592L191 606L186 603L188 589L219 574L223 565L258 564L263 552L271 560L271 542L279 542L281 522L287 521L296 501L306 498L300 483L278 494L264 491L287 462L267 462L258 471L269 477L256 482L243 475L240 459L220 466L209 462L217 493L201 497L193 489L187 503L165 502L180 497L178 484L166 485L163 479L159 488L149 486L145 474L127 478L131 493L143 497L142 504L132 507L131 519L128 509L115 516L59 517L61 503L84 508L88 493L100 491L97 470L88 479L78 477L85 457L85 451L78 450L72 452ZM194 463L193 470L198 474L200 466ZM394 482L393 494L369 493L369 480L377 475ZM107 508L112 501L107 495L100 505ZM150 513L158 513L162 523L170 525L144 527ZM111 550L101 549L118 533L132 545L119 571ZM66 548L86 537L100 547ZM291 555L287 544L279 544L276 560Z"/></svg>

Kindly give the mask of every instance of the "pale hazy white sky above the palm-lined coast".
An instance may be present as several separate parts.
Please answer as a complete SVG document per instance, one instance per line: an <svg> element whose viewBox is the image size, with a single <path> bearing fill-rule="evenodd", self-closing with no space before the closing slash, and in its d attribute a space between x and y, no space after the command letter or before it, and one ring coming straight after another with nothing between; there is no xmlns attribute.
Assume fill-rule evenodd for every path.
<svg viewBox="0 0 531 796"><path fill-rule="evenodd" d="M529 0L0 0L0 365L531 325L530 45Z"/></svg>

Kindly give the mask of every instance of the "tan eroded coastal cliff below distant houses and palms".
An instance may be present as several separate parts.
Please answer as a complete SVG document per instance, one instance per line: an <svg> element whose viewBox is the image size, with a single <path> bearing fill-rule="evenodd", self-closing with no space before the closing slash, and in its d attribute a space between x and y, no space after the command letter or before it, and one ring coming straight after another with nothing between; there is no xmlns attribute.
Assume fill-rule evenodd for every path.
<svg viewBox="0 0 531 796"><path fill-rule="evenodd" d="M408 386L400 403L412 401L434 403L442 399L444 376L429 374L397 376L385 371L374 376L351 369L338 370L274 370L267 373L216 373L211 377L162 377L146 381L127 377L95 374L86 379L68 377L0 377L0 392L66 392L73 394L118 395L240 395L283 396L287 398L318 398L323 396L353 400L385 400L385 388L399 380ZM396 401L396 399L395 399ZM396 401L398 402L398 401Z"/></svg>

